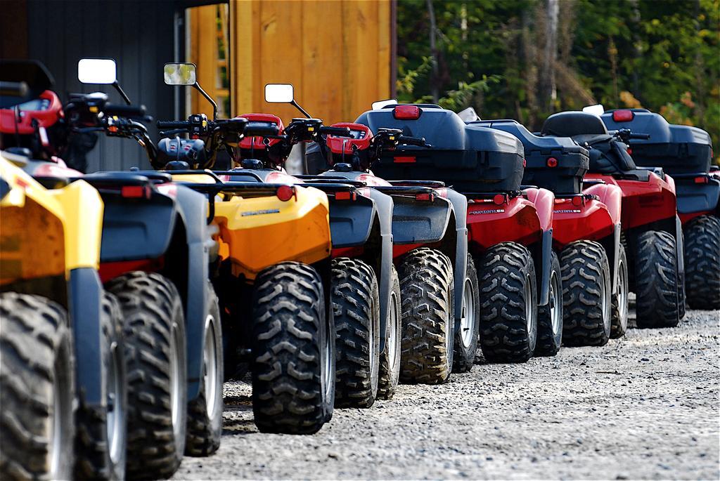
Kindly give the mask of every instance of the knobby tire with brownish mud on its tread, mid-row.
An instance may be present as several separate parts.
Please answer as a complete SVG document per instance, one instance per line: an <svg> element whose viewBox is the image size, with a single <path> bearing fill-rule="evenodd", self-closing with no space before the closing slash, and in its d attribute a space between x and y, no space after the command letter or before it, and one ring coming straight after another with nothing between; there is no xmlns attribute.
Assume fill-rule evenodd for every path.
<svg viewBox="0 0 720 481"><path fill-rule="evenodd" d="M440 384L452 367L454 285L449 258L421 247L403 257L398 269L402 296L400 380Z"/></svg>

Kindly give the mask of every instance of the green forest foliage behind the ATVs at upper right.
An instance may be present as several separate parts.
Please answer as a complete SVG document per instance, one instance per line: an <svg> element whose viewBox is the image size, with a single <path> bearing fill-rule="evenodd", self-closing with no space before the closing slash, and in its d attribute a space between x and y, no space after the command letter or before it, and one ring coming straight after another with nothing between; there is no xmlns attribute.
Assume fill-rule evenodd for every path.
<svg viewBox="0 0 720 481"><path fill-rule="evenodd" d="M595 101L643 106L706 129L720 152L720 0L559 1L554 60L544 55L546 0L433 1L433 75L426 0L399 0L398 99L431 101L435 85L442 106L531 128ZM552 101L542 88L548 68Z"/></svg>

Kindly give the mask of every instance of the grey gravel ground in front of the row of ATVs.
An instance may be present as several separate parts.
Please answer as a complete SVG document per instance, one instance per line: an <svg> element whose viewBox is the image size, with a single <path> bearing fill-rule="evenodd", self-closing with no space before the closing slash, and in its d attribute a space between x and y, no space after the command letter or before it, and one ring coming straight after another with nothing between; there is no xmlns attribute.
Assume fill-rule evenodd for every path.
<svg viewBox="0 0 720 481"><path fill-rule="evenodd" d="M315 436L259 434L225 385L220 451L175 479L720 478L720 311L631 329L602 348L487 365L336 410Z"/></svg>

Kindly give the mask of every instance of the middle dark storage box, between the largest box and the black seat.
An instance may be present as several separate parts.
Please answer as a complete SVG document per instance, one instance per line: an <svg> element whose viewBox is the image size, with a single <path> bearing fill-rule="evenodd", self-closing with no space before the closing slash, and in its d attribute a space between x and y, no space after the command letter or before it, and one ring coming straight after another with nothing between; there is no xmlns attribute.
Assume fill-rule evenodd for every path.
<svg viewBox="0 0 720 481"><path fill-rule="evenodd" d="M513 134L525 149L524 185L536 185L556 194L580 193L588 172L588 150L570 137L538 137L514 120L485 120L471 125Z"/></svg>

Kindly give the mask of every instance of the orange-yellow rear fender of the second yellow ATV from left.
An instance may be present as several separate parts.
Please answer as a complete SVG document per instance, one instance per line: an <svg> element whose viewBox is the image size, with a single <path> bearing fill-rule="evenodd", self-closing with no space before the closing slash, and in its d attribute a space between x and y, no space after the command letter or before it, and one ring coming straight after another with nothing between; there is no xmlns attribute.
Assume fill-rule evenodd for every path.
<svg viewBox="0 0 720 481"><path fill-rule="evenodd" d="M368 199L369 201L369 199ZM215 203L215 224L228 245L233 275L256 278L278 262L314 264L330 256L328 196L295 188L295 198L231 198Z"/></svg>

